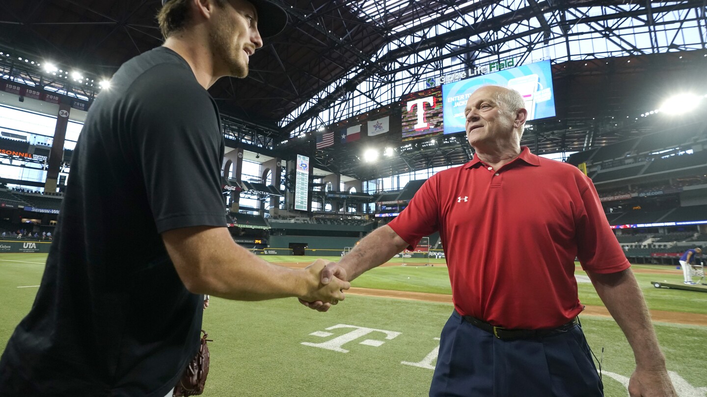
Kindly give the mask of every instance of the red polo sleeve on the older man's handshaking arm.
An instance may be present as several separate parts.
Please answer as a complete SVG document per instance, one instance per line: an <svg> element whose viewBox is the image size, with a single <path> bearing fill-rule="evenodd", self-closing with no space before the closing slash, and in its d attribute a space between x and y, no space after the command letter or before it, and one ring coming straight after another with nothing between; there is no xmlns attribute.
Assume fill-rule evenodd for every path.
<svg viewBox="0 0 707 397"><path fill-rule="evenodd" d="M388 223L388 226L409 244L413 250L424 236L439 228L438 177L431 177L412 198L407 208Z"/></svg>

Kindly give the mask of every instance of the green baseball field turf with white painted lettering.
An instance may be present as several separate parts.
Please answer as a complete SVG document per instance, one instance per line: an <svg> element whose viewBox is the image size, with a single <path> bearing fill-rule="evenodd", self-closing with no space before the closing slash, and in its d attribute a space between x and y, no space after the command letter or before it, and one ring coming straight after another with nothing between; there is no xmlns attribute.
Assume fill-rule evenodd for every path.
<svg viewBox="0 0 707 397"><path fill-rule="evenodd" d="M264 258L274 262L314 259ZM45 259L46 254L0 254L0 299L5 303L0 312L0 351L32 305L37 288L31 286L40 283ZM402 263L402 259L394 261ZM408 266L375 268L353 285L450 293L445 267L414 266L416 261L405 259ZM658 290L650 285L656 278L682 280L679 273L636 275L650 309L707 313L707 293ZM590 283L580 283L579 288L583 303L601 304ZM450 304L358 295L349 295L327 313L307 309L295 299L214 298L204 314L204 329L214 339L209 344L211 372L204 396L426 396L432 370L423 365L424 359L438 346L435 338L451 311ZM604 350L606 395L628 396L622 382L633 370L633 357L621 331L605 317L583 316L582 324L597 357ZM325 343L354 330L350 326L373 331L339 346L348 352L302 344ZM679 396L707 396L707 327L660 322L655 327ZM428 358L428 365L434 365L433 357Z"/></svg>

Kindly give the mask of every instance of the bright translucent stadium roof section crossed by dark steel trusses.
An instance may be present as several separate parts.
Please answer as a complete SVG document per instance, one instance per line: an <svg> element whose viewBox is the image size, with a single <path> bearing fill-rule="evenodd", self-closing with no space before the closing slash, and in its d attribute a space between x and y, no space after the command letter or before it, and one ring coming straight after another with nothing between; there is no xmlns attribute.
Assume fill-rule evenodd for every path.
<svg viewBox="0 0 707 397"><path fill-rule="evenodd" d="M508 57L518 64L561 63L707 48L706 8L699 0L332 1L306 20L323 26L343 4L385 40L370 56L351 49L361 61L281 120L284 139L388 105L425 88L427 78ZM361 27L341 23L347 37Z"/></svg>

